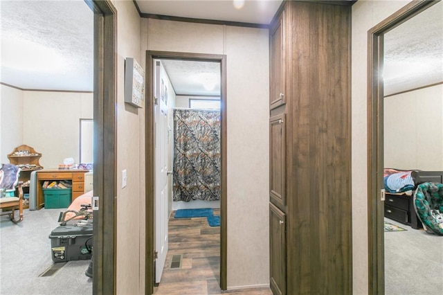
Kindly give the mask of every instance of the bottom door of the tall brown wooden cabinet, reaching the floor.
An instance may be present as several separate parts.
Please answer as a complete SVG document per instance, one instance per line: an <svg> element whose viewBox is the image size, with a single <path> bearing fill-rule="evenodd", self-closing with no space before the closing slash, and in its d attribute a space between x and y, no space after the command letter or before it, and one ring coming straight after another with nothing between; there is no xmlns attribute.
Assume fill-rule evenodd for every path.
<svg viewBox="0 0 443 295"><path fill-rule="evenodd" d="M273 294L286 294L286 215L269 204L270 272Z"/></svg>

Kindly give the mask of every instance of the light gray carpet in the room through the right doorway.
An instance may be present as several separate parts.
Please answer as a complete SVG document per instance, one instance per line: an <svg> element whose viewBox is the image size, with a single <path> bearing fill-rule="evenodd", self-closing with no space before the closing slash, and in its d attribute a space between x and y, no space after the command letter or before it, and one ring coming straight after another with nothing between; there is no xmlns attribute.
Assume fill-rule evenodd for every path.
<svg viewBox="0 0 443 295"><path fill-rule="evenodd" d="M407 229L384 234L386 295L441 294L443 236L385 220Z"/></svg>

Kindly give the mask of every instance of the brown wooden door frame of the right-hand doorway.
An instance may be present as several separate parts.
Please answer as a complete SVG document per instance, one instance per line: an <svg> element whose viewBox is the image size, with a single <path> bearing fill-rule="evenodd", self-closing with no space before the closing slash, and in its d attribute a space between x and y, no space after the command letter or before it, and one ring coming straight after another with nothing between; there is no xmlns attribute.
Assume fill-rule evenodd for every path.
<svg viewBox="0 0 443 295"><path fill-rule="evenodd" d="M440 0L419 0L368 30L368 294L385 293L383 185L383 35Z"/></svg>

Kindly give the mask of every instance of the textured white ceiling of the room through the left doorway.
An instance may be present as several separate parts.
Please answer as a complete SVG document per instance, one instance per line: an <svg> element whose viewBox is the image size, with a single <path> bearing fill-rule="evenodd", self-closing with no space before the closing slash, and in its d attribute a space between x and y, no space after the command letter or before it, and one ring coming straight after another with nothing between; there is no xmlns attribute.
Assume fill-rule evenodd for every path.
<svg viewBox="0 0 443 295"><path fill-rule="evenodd" d="M1 82L93 90L93 12L78 1L0 1Z"/></svg>

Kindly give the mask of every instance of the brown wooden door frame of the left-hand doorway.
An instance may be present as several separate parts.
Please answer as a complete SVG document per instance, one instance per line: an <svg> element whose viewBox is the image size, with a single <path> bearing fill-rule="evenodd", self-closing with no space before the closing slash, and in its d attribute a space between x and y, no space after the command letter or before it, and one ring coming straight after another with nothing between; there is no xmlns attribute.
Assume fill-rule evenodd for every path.
<svg viewBox="0 0 443 295"><path fill-rule="evenodd" d="M117 10L110 0L84 0L93 22L93 294L116 294Z"/></svg>

